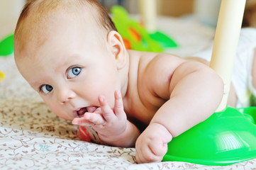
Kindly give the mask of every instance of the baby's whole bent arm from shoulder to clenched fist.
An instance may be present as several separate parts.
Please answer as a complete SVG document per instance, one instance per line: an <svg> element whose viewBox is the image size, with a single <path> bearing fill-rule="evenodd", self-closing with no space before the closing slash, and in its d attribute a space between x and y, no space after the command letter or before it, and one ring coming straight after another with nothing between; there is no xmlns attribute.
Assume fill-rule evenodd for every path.
<svg viewBox="0 0 256 170"><path fill-rule="evenodd" d="M172 65L168 66L167 63L174 62L179 64L173 73L168 75L169 71L165 67L167 65L166 68L169 67L171 70ZM172 137L177 137L206 120L216 111L223 96L221 78L199 62L184 61L175 57L168 62L165 58L158 60L152 70L154 72L150 73L150 77L155 81L150 82L154 86L155 94L160 98L167 98L165 94L169 94L169 99L155 113L148 128L138 137L135 145L138 163L160 162Z"/></svg>

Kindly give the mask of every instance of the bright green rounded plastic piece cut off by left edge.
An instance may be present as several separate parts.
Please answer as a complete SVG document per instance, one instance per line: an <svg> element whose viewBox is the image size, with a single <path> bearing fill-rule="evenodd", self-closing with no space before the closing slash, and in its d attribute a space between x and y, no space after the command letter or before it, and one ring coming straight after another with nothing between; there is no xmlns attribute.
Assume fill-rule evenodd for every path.
<svg viewBox="0 0 256 170"><path fill-rule="evenodd" d="M7 57L13 53L13 34L0 42L0 57Z"/></svg>

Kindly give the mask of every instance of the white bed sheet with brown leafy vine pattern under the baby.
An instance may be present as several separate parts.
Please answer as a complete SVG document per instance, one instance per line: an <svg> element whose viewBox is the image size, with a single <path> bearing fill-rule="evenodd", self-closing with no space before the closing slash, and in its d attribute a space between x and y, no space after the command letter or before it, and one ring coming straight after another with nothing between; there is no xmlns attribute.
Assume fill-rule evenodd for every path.
<svg viewBox="0 0 256 170"><path fill-rule="evenodd" d="M160 18L157 25L172 33L187 56L201 50L214 30L194 21ZM0 57L0 169L256 169L256 159L229 166L187 162L136 164L134 148L84 142L77 126L57 118L18 73L13 56Z"/></svg>

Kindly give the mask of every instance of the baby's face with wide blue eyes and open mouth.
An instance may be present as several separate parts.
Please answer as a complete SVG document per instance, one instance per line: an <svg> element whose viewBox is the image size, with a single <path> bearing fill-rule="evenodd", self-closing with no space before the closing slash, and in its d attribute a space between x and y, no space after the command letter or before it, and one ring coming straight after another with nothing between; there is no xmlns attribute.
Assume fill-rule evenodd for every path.
<svg viewBox="0 0 256 170"><path fill-rule="evenodd" d="M95 111L99 95L113 107L114 91L121 87L115 57L100 42L95 26L84 28L67 20L56 20L48 39L16 63L53 113L73 120L82 116L80 110Z"/></svg>

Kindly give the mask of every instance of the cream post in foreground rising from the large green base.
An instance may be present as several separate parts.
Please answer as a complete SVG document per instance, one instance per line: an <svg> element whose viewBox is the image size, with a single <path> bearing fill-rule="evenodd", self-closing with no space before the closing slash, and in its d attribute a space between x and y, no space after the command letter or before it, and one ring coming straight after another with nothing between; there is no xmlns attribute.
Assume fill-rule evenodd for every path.
<svg viewBox="0 0 256 170"><path fill-rule="evenodd" d="M227 105L245 2L246 0L221 1L210 64L224 81L224 95L217 111L223 111Z"/></svg>

